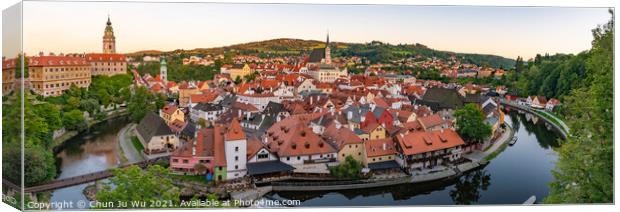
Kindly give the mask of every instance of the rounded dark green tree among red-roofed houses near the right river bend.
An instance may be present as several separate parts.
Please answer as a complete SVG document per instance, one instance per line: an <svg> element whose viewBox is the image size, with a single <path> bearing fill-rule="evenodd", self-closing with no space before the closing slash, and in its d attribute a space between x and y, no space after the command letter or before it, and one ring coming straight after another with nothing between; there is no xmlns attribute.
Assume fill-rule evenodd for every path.
<svg viewBox="0 0 620 212"><path fill-rule="evenodd" d="M454 112L456 131L468 143L481 143L491 135L491 126L484 123L484 114L475 104L467 104Z"/></svg>

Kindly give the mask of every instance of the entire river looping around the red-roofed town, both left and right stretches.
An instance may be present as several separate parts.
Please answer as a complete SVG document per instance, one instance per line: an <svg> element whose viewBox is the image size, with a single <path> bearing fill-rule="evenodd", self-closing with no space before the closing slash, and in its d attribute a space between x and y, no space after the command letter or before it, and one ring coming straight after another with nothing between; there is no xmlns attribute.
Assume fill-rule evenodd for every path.
<svg viewBox="0 0 620 212"><path fill-rule="evenodd" d="M518 141L488 165L450 180L407 184L375 189L338 192L274 192L273 199L301 200L302 206L390 206L452 204L521 204L530 196L538 201L547 196L553 180L558 135L542 121L532 123L525 114L507 112L506 123L513 126ZM69 140L57 154L59 178L115 167L119 163L116 133L126 119L98 124ZM52 201L86 201L86 184L58 189Z"/></svg>

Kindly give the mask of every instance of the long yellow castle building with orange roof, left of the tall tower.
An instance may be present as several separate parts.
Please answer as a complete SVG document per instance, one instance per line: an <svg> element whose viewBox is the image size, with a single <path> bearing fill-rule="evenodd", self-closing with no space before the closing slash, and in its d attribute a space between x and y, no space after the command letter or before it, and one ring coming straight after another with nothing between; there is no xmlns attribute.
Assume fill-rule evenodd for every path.
<svg viewBox="0 0 620 212"><path fill-rule="evenodd" d="M91 67L83 57L40 54L27 60L30 88L38 95L59 96L71 85L90 86Z"/></svg>

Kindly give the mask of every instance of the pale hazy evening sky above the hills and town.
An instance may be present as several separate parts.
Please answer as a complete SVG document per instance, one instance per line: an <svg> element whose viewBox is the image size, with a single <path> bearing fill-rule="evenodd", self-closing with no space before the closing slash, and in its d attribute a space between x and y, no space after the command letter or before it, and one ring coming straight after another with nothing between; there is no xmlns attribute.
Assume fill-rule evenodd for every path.
<svg viewBox="0 0 620 212"><path fill-rule="evenodd" d="M108 14L120 53L324 40L329 29L332 41L421 43L509 58L586 50L591 29L610 18L606 8L25 2L24 50L101 52Z"/></svg>

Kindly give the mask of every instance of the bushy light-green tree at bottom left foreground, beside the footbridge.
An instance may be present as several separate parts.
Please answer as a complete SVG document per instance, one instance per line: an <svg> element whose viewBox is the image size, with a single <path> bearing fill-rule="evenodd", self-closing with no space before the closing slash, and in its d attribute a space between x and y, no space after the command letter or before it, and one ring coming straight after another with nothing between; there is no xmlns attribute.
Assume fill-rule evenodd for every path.
<svg viewBox="0 0 620 212"><path fill-rule="evenodd" d="M137 166L113 169L114 177L104 183L97 192L99 202L128 202L117 208L170 207L169 205L150 204L151 201L180 202L180 189L172 184L170 171L159 165L149 166L146 170ZM132 205L131 202L145 202L145 205Z"/></svg>

